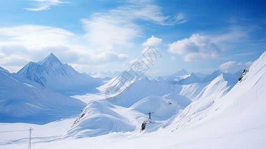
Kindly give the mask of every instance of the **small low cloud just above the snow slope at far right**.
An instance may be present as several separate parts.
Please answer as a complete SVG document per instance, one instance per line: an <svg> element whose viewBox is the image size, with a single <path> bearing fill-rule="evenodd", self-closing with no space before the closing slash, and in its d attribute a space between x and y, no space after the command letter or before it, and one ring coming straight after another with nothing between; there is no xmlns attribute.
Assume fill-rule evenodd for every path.
<svg viewBox="0 0 266 149"><path fill-rule="evenodd" d="M237 63L236 61L229 61L224 64L221 64L219 67L223 70L228 70L230 72L235 72L240 69L247 69L252 65L253 62L247 62L247 63Z"/></svg>

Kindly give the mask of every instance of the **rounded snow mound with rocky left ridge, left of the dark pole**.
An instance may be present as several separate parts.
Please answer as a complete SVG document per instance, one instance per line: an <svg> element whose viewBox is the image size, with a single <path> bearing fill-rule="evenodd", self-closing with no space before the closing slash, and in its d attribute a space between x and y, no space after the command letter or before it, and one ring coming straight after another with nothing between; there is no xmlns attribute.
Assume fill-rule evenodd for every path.
<svg viewBox="0 0 266 149"><path fill-rule="evenodd" d="M90 101L82 110L68 135L94 137L110 132L134 131L136 126L99 101Z"/></svg>

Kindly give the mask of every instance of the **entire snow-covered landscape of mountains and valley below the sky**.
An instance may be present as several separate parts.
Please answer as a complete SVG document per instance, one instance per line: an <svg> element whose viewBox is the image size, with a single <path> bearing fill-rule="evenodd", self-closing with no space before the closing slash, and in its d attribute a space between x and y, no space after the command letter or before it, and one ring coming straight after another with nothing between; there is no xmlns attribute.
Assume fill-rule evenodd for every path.
<svg viewBox="0 0 266 149"><path fill-rule="evenodd" d="M0 68L0 148L27 148L33 128L33 149L264 149L266 53L242 72L94 78L53 54Z"/></svg>

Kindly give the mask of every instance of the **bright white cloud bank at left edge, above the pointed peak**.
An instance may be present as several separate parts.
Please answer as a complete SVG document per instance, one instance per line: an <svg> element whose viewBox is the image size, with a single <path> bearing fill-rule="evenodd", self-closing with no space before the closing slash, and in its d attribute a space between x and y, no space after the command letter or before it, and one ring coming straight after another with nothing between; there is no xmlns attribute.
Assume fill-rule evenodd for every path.
<svg viewBox="0 0 266 149"><path fill-rule="evenodd" d="M68 44L67 40L74 36L73 33L62 28L23 25L16 27L0 28L0 37L4 36L6 44L22 44L29 50L38 50L44 46Z"/></svg>

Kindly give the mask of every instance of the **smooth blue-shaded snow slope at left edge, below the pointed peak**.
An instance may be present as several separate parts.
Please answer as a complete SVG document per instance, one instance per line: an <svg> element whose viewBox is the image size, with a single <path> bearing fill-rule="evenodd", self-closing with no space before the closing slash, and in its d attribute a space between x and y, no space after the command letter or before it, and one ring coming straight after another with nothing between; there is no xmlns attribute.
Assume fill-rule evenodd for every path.
<svg viewBox="0 0 266 149"><path fill-rule="evenodd" d="M0 70L0 123L45 124L79 114L85 103Z"/></svg>

